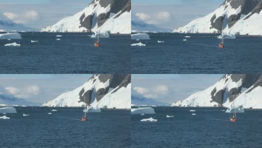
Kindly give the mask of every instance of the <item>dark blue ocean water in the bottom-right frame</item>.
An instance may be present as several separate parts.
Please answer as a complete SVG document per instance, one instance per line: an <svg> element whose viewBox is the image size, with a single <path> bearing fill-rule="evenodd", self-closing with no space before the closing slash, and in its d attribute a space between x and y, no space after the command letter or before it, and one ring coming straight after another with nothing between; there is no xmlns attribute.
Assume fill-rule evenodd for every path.
<svg viewBox="0 0 262 148"><path fill-rule="evenodd" d="M156 114L131 115L131 148L262 148L261 110L237 113L234 123L222 108L154 109ZM149 117L158 121L140 121Z"/></svg>

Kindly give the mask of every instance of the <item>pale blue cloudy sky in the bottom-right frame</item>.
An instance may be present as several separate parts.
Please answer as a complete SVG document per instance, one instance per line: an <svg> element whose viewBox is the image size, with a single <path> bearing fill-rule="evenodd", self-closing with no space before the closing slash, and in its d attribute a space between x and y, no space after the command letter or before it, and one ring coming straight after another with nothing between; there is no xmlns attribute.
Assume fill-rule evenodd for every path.
<svg viewBox="0 0 262 148"><path fill-rule="evenodd" d="M132 95L165 103L184 100L217 82L223 74L132 74Z"/></svg>

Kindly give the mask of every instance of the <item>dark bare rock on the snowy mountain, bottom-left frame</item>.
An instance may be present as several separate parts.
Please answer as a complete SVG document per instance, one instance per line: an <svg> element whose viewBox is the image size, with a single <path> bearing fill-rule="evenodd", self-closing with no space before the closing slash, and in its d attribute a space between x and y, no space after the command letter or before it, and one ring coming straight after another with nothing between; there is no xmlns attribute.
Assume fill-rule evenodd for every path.
<svg viewBox="0 0 262 148"><path fill-rule="evenodd" d="M95 78L98 76L98 78ZM112 88L117 88L114 90L113 93L117 92L121 87L127 87L129 83L131 83L131 74L94 74L91 78L92 83L96 81L100 81L102 83L105 83L109 81L109 86L106 88L100 88L94 92L94 88L91 90L84 90L84 88L79 92L79 102L84 102L84 96L85 96L85 101L87 104L93 103L93 101L100 101L107 93L109 93L109 89ZM89 79L89 80L90 80ZM95 96L92 95L95 93Z"/></svg>

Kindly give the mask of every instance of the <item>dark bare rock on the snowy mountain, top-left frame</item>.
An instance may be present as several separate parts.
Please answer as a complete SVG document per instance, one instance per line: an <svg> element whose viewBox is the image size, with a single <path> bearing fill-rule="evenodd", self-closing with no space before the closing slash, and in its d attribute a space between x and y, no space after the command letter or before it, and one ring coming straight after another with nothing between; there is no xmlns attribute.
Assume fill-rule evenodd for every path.
<svg viewBox="0 0 262 148"><path fill-rule="evenodd" d="M98 0L93 0L90 4L94 4L96 1ZM99 0L99 4L104 8L110 5L110 11L101 13L97 16L98 27L101 27L110 18L111 13L117 14L118 12L122 11L120 14L118 14L118 16L115 17L117 18L125 11L131 10L131 0ZM94 8L96 6L97 4L94 5ZM94 16L95 14L85 17L85 13L83 13L82 16L79 18L79 28L84 27L87 29L88 32L91 32Z"/></svg>

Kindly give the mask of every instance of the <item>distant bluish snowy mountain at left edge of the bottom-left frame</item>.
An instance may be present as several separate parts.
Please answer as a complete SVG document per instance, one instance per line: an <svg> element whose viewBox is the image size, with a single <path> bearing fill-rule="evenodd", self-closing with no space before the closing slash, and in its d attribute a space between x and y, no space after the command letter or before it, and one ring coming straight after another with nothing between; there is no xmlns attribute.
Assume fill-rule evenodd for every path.
<svg viewBox="0 0 262 148"><path fill-rule="evenodd" d="M0 106L40 106L40 104L0 93Z"/></svg>

